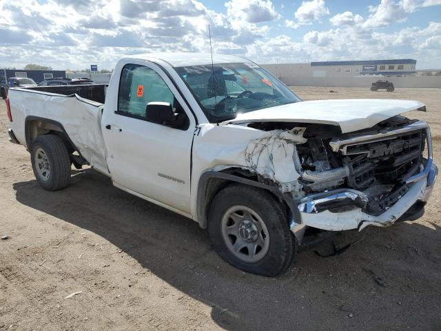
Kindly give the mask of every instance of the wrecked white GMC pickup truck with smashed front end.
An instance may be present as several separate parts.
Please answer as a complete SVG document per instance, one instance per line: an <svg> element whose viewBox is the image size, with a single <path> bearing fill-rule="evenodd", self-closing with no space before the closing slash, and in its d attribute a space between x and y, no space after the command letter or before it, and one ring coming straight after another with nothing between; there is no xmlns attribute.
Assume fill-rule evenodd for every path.
<svg viewBox="0 0 441 331"><path fill-rule="evenodd" d="M10 140L30 151L45 190L90 165L207 228L228 263L269 277L309 232L418 219L438 173L429 126L400 115L422 103L302 101L238 57L124 57L104 104L62 89L11 88L7 100Z"/></svg>

